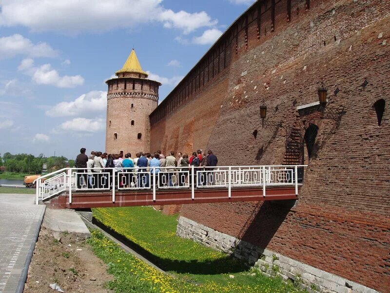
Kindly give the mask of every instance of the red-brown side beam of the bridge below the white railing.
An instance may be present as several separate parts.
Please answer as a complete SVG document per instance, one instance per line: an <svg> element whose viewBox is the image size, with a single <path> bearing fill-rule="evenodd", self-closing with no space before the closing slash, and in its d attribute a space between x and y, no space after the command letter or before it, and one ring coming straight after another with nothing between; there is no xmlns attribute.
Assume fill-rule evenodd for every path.
<svg viewBox="0 0 390 293"><path fill-rule="evenodd" d="M301 185L298 187L301 188ZM293 186L272 186L266 188L263 196L261 187L232 188L231 197L228 197L226 188L197 188L195 197L191 197L191 189L157 190L156 200L153 200L151 190L116 191L115 202L111 191L77 191L72 192L72 203L69 203L69 194L63 193L50 200L50 206L58 209L83 209L107 207L131 207L175 204L201 204L224 202L247 202L266 200L297 199Z"/></svg>

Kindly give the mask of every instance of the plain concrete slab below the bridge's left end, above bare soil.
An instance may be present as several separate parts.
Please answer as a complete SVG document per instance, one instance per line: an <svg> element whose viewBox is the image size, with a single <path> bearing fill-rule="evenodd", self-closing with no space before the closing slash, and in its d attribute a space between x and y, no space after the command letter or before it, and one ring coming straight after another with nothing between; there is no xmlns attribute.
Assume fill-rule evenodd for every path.
<svg viewBox="0 0 390 293"><path fill-rule="evenodd" d="M78 213L72 209L46 209L42 225L56 232L68 231L86 237L91 234Z"/></svg>

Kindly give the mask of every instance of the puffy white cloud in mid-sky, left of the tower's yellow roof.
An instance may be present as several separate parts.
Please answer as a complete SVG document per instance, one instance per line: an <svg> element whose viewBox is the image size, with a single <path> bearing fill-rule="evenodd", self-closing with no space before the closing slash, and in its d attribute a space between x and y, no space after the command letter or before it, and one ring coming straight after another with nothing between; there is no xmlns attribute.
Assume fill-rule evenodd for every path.
<svg viewBox="0 0 390 293"><path fill-rule="evenodd" d="M84 84L84 78L81 75L60 76L58 71L53 69L48 63L35 67L32 59L22 60L18 70L31 75L32 80L36 84L47 84L57 87L75 87Z"/></svg>

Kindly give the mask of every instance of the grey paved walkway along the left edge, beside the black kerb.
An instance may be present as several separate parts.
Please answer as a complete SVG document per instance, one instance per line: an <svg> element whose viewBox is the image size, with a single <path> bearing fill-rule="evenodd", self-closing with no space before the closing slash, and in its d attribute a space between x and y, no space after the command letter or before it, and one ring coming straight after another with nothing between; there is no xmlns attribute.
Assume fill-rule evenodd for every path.
<svg viewBox="0 0 390 293"><path fill-rule="evenodd" d="M21 292L45 206L34 194L0 194L0 293Z"/></svg>

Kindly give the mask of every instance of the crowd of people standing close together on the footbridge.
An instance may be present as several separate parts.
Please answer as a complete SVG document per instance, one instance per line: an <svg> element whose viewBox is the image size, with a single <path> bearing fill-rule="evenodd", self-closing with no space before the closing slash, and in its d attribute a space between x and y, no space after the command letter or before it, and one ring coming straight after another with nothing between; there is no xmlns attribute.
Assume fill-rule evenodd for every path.
<svg viewBox="0 0 390 293"><path fill-rule="evenodd" d="M91 151L90 156L86 154L86 149L80 149L80 154L76 157L75 167L80 168L77 173L78 188L108 188L115 186L113 170L120 172L118 177L119 187L149 188L149 178L152 184L159 181L159 186L185 186L191 184L192 167L196 168L197 185L206 185L207 182L214 182L214 177L210 171L217 166L218 159L212 150L202 153L198 149L189 157L186 153L171 151L168 156L157 150L155 153L137 152L132 158L131 153L124 155L107 154L100 151ZM179 167L179 168L177 168ZM207 172L199 172L201 167L207 167ZM99 173L104 174L99 174ZM83 174L85 173L85 174ZM108 174L107 174L108 173ZM149 173L151 176L149 177ZM195 174L194 174L195 175ZM108 180L110 176L111 181ZM120 179L119 179L120 178ZM110 183L111 182L111 183Z"/></svg>

